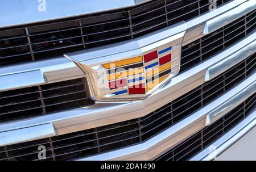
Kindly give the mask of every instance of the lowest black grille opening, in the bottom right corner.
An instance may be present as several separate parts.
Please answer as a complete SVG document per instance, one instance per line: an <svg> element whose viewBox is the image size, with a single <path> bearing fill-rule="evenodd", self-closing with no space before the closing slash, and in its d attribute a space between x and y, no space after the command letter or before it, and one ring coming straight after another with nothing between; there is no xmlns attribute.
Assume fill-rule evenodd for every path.
<svg viewBox="0 0 256 172"><path fill-rule="evenodd" d="M195 156L195 154L212 144L215 140L224 135L224 133L229 131L230 128L244 119L255 106L256 94L252 95L249 99L240 104L240 106L234 108L234 110L230 111L213 124L205 127L195 135L189 137L187 140L181 142L179 145L164 153L156 160L189 160Z"/></svg>

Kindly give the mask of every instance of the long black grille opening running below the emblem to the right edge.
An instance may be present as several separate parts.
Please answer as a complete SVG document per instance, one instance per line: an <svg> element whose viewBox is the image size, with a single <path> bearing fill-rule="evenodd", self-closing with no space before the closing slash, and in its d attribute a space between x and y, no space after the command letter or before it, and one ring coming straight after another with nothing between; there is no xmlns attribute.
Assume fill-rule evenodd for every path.
<svg viewBox="0 0 256 172"><path fill-rule="evenodd" d="M212 81L204 83L143 118L0 147L0 160L36 160L39 145L46 146L46 160L72 160L138 144L184 119L243 81L255 70L255 57L256 54L247 57Z"/></svg>

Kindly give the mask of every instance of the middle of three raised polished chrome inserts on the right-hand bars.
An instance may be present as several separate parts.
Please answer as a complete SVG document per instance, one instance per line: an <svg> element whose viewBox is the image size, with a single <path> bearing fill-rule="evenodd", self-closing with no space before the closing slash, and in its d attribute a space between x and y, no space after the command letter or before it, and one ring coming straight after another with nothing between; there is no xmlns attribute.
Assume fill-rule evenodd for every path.
<svg viewBox="0 0 256 172"><path fill-rule="evenodd" d="M224 60L218 62L213 66L210 66L210 68L208 68L206 71L204 81L209 81L210 79L217 77L219 74L225 72L230 67L238 64L238 62L243 61L246 57L248 57L248 54L253 54L255 52L256 41L253 41L250 44L246 45L246 47L243 48L242 51L238 50L236 53L230 55Z"/></svg>

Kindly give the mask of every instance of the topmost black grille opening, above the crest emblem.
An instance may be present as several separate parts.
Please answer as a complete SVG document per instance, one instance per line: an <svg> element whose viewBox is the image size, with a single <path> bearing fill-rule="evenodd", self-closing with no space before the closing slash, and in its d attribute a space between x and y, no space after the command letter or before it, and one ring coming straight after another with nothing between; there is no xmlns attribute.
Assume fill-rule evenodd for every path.
<svg viewBox="0 0 256 172"><path fill-rule="evenodd" d="M230 0L216 0L217 6ZM76 18L0 29L0 66L133 39L208 11L208 0L158 0Z"/></svg>

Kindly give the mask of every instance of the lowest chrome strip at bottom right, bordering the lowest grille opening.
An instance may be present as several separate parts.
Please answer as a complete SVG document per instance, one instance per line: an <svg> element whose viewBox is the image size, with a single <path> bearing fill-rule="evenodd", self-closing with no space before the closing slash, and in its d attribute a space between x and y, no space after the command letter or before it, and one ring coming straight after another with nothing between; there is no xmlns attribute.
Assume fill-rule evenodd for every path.
<svg viewBox="0 0 256 172"><path fill-rule="evenodd" d="M236 141L241 139L247 132L256 126L256 108L251 112L245 119L238 123L234 128L230 129L225 135L221 136L220 139L214 141L207 148L202 150L196 156L192 157L191 161L210 161L214 157L220 155ZM214 148L216 149L212 149Z"/></svg>

